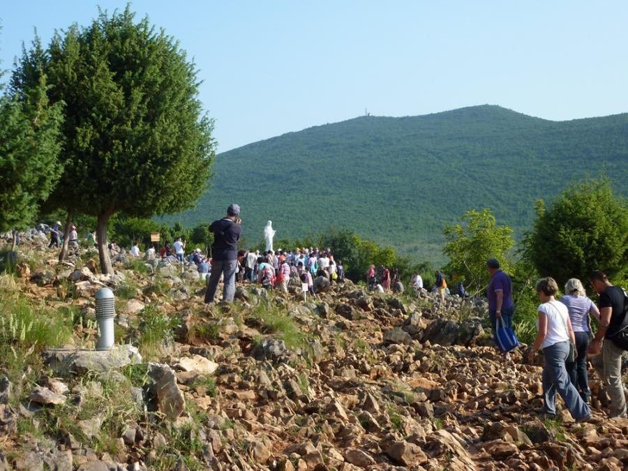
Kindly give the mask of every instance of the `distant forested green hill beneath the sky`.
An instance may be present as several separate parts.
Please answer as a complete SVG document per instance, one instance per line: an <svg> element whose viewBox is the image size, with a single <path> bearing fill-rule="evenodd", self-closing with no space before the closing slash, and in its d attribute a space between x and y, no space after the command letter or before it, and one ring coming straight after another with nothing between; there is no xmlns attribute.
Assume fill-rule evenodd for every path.
<svg viewBox="0 0 628 471"><path fill-rule="evenodd" d="M415 260L443 260L442 227L488 207L528 230L539 197L601 167L628 194L628 114L547 121L483 105L417 117L359 117L218 155L191 226L242 207L244 234L278 238L347 227Z"/></svg>

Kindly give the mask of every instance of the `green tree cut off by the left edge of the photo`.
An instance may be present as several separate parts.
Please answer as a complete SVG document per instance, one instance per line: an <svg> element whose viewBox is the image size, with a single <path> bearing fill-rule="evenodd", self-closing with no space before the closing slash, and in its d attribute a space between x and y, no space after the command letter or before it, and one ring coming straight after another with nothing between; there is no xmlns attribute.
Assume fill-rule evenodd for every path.
<svg viewBox="0 0 628 471"><path fill-rule="evenodd" d="M27 92L0 97L0 230L14 231L13 247L15 231L33 223L61 174L62 103L51 106L46 88L40 69Z"/></svg>

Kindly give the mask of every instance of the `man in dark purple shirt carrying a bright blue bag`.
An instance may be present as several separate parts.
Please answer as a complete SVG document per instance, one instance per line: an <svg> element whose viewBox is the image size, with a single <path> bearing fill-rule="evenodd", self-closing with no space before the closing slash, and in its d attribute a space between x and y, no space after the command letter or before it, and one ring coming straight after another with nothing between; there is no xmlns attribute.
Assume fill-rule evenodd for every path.
<svg viewBox="0 0 628 471"><path fill-rule="evenodd" d="M512 282L510 277L500 269L500 262L495 258L486 261L486 269L491 274L486 296L488 297L488 316L491 317L491 326L495 343L508 359L508 352L517 345L517 338L512 330Z"/></svg>

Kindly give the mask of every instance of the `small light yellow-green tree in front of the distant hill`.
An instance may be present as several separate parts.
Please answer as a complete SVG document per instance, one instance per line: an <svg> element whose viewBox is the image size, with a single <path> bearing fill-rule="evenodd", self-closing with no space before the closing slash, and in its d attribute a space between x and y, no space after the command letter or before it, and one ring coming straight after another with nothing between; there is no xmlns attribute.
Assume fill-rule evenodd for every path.
<svg viewBox="0 0 628 471"><path fill-rule="evenodd" d="M447 271L455 272L466 281L468 289L478 292L491 278L486 270L486 260L496 258L504 271L509 270L506 253L514 245L512 230L497 225L495 216L488 209L468 211L462 220L462 224L444 228L447 242L442 251L449 257Z"/></svg>

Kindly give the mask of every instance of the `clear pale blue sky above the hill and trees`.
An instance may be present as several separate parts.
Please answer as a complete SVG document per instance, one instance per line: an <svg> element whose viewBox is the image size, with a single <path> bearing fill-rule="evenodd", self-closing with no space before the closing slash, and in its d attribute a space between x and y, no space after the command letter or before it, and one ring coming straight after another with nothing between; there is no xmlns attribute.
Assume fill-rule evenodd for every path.
<svg viewBox="0 0 628 471"><path fill-rule="evenodd" d="M490 103L545 119L628 112L628 1L133 1L204 80L226 151L367 107L408 116ZM33 27L124 1L2 1L0 59ZM6 79L6 77L5 77Z"/></svg>

